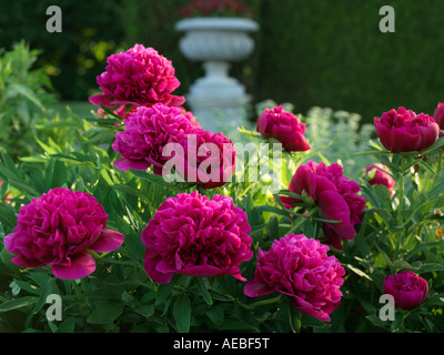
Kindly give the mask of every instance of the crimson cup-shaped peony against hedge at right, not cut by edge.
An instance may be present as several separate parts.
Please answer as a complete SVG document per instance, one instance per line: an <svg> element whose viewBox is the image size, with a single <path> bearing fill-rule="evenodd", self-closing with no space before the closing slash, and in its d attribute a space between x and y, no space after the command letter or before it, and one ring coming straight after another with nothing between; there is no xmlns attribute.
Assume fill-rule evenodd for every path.
<svg viewBox="0 0 444 355"><path fill-rule="evenodd" d="M382 145L393 153L421 152L436 142L440 126L427 114L398 108L374 118Z"/></svg>

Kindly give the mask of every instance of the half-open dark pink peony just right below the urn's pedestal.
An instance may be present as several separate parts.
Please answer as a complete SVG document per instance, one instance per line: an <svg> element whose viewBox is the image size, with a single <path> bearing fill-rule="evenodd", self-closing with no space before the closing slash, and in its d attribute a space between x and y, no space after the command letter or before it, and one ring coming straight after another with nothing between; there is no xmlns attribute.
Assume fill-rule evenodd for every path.
<svg viewBox="0 0 444 355"><path fill-rule="evenodd" d="M265 109L258 119L256 131L264 139L275 139L287 152L307 151L310 144L305 139L305 123L284 111L282 106Z"/></svg>

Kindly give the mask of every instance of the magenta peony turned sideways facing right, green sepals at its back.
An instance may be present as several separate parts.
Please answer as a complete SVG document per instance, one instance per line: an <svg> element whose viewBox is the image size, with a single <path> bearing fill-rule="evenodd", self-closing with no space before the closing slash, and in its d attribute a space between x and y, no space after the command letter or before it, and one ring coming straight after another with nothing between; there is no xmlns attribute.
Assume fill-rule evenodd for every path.
<svg viewBox="0 0 444 355"><path fill-rule="evenodd" d="M342 250L341 240L350 241L356 235L354 226L361 224L365 199L359 195L360 185L342 174L341 165L326 166L310 161L296 170L289 191L305 196L305 203L317 205L323 219L341 221L322 224L325 243ZM289 209L303 202L290 196L281 196L281 200Z"/></svg>

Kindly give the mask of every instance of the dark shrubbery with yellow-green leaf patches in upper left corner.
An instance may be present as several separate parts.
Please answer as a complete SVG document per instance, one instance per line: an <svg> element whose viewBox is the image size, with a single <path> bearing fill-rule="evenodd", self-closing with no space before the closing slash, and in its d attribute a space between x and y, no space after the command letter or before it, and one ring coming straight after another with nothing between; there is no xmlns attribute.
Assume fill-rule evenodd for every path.
<svg viewBox="0 0 444 355"><path fill-rule="evenodd" d="M123 42L118 1L8 1L1 0L0 47L11 50L22 39L43 52L36 64L51 75L56 93L63 100L85 100L105 58ZM62 32L47 31L47 9L59 6Z"/></svg>

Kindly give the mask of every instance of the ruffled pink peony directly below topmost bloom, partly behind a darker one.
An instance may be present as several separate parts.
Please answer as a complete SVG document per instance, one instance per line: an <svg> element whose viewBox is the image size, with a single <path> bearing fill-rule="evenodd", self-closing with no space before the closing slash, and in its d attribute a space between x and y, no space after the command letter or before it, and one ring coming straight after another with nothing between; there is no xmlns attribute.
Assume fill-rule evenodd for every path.
<svg viewBox="0 0 444 355"><path fill-rule="evenodd" d="M163 103L151 108L139 106L124 120L125 131L115 134L112 148L123 158L114 162L114 166L128 171L129 168L147 170L153 165L154 173L161 175L169 160L162 155L163 146L182 141L193 128L183 112L181 108Z"/></svg>

